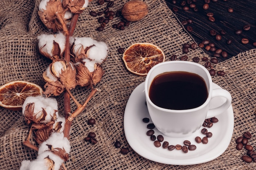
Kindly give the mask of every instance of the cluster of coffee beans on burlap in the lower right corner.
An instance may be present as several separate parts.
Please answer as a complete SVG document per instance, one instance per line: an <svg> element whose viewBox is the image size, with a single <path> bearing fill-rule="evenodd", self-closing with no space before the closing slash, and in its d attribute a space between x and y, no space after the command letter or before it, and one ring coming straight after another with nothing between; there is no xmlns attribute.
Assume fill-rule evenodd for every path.
<svg viewBox="0 0 256 170"><path fill-rule="evenodd" d="M253 147L248 144L251 138L251 133L245 132L243 136L236 139L236 149L242 150L245 148L245 150L247 150L247 155L242 156L242 160L247 163L251 163L252 161L256 162L256 152L253 150Z"/></svg>

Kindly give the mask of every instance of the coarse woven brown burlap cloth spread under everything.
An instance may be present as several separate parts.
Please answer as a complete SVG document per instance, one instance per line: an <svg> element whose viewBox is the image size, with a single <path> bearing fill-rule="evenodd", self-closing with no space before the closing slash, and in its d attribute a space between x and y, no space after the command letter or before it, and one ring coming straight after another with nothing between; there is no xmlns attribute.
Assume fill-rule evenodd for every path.
<svg viewBox="0 0 256 170"><path fill-rule="evenodd" d="M115 0L113 11L121 9L128 0ZM105 75L97 88L99 92L89 102L87 108L76 117L70 132L70 159L65 162L68 170L166 170L166 169L220 169L249 170L255 169L256 163L245 163L241 156L245 151L236 150L235 139L243 132L249 131L255 137L255 50L238 54L231 60L217 64L216 70L223 70L223 77L214 76L213 81L228 90L233 97L235 116L234 134L229 148L213 161L192 166L173 166L150 161L141 157L130 148L124 135L123 116L126 102L134 88L145 77L133 75L126 70L119 47L127 48L135 42L150 42L159 46L166 54L182 55L182 44L192 43L193 39L180 26L179 21L164 0L145 0L149 13L143 20L132 22L125 30L119 31L111 27L120 21L114 18L102 32L96 31L99 26L97 18L89 15L89 11L100 11L106 4L99 6L97 0L79 16L74 31L75 37L91 37L104 41L109 46L109 56L103 63ZM40 0L2 0L0 1L0 85L14 80L25 80L43 87L45 82L42 73L51 61L39 54L36 36L48 31L38 17ZM198 56L209 57L201 49L190 50L189 61ZM199 62L204 64L203 62ZM73 95L81 103L90 89L76 88ZM59 113L63 114L63 95L56 97ZM71 102L71 108L76 108ZM0 108L0 169L18 170L22 160L36 159L37 152L22 145L27 138L29 126L25 123L21 112ZM96 119L94 126L87 120ZM97 134L95 145L84 141L89 132ZM127 155L119 153L114 142L121 141L122 147L129 148ZM31 139L32 144L36 144ZM255 146L252 139L250 144Z"/></svg>

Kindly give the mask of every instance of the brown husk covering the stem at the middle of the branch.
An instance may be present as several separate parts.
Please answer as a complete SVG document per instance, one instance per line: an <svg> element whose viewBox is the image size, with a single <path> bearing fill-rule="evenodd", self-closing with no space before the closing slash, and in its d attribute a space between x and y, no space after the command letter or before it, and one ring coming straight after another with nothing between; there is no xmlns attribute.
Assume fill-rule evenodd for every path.
<svg viewBox="0 0 256 170"><path fill-rule="evenodd" d="M69 62L67 68L61 71L60 81L68 89L76 87L76 68L73 63Z"/></svg>

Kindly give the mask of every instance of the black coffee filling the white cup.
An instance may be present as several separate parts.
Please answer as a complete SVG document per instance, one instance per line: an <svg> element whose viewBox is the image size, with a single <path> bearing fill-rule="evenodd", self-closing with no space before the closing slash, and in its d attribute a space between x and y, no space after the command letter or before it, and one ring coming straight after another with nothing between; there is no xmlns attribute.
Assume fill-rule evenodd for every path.
<svg viewBox="0 0 256 170"><path fill-rule="evenodd" d="M204 79L185 71L162 73L153 79L149 89L149 98L155 105L172 110L197 108L207 97Z"/></svg>

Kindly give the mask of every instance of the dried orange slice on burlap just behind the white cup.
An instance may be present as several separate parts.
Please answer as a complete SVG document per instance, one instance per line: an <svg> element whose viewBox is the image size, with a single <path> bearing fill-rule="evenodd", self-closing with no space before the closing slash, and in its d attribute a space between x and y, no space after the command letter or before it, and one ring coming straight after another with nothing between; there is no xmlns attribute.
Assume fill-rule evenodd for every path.
<svg viewBox="0 0 256 170"><path fill-rule="evenodd" d="M164 62L164 52L150 43L135 43L123 53L123 60L128 71L145 76L158 63Z"/></svg>

